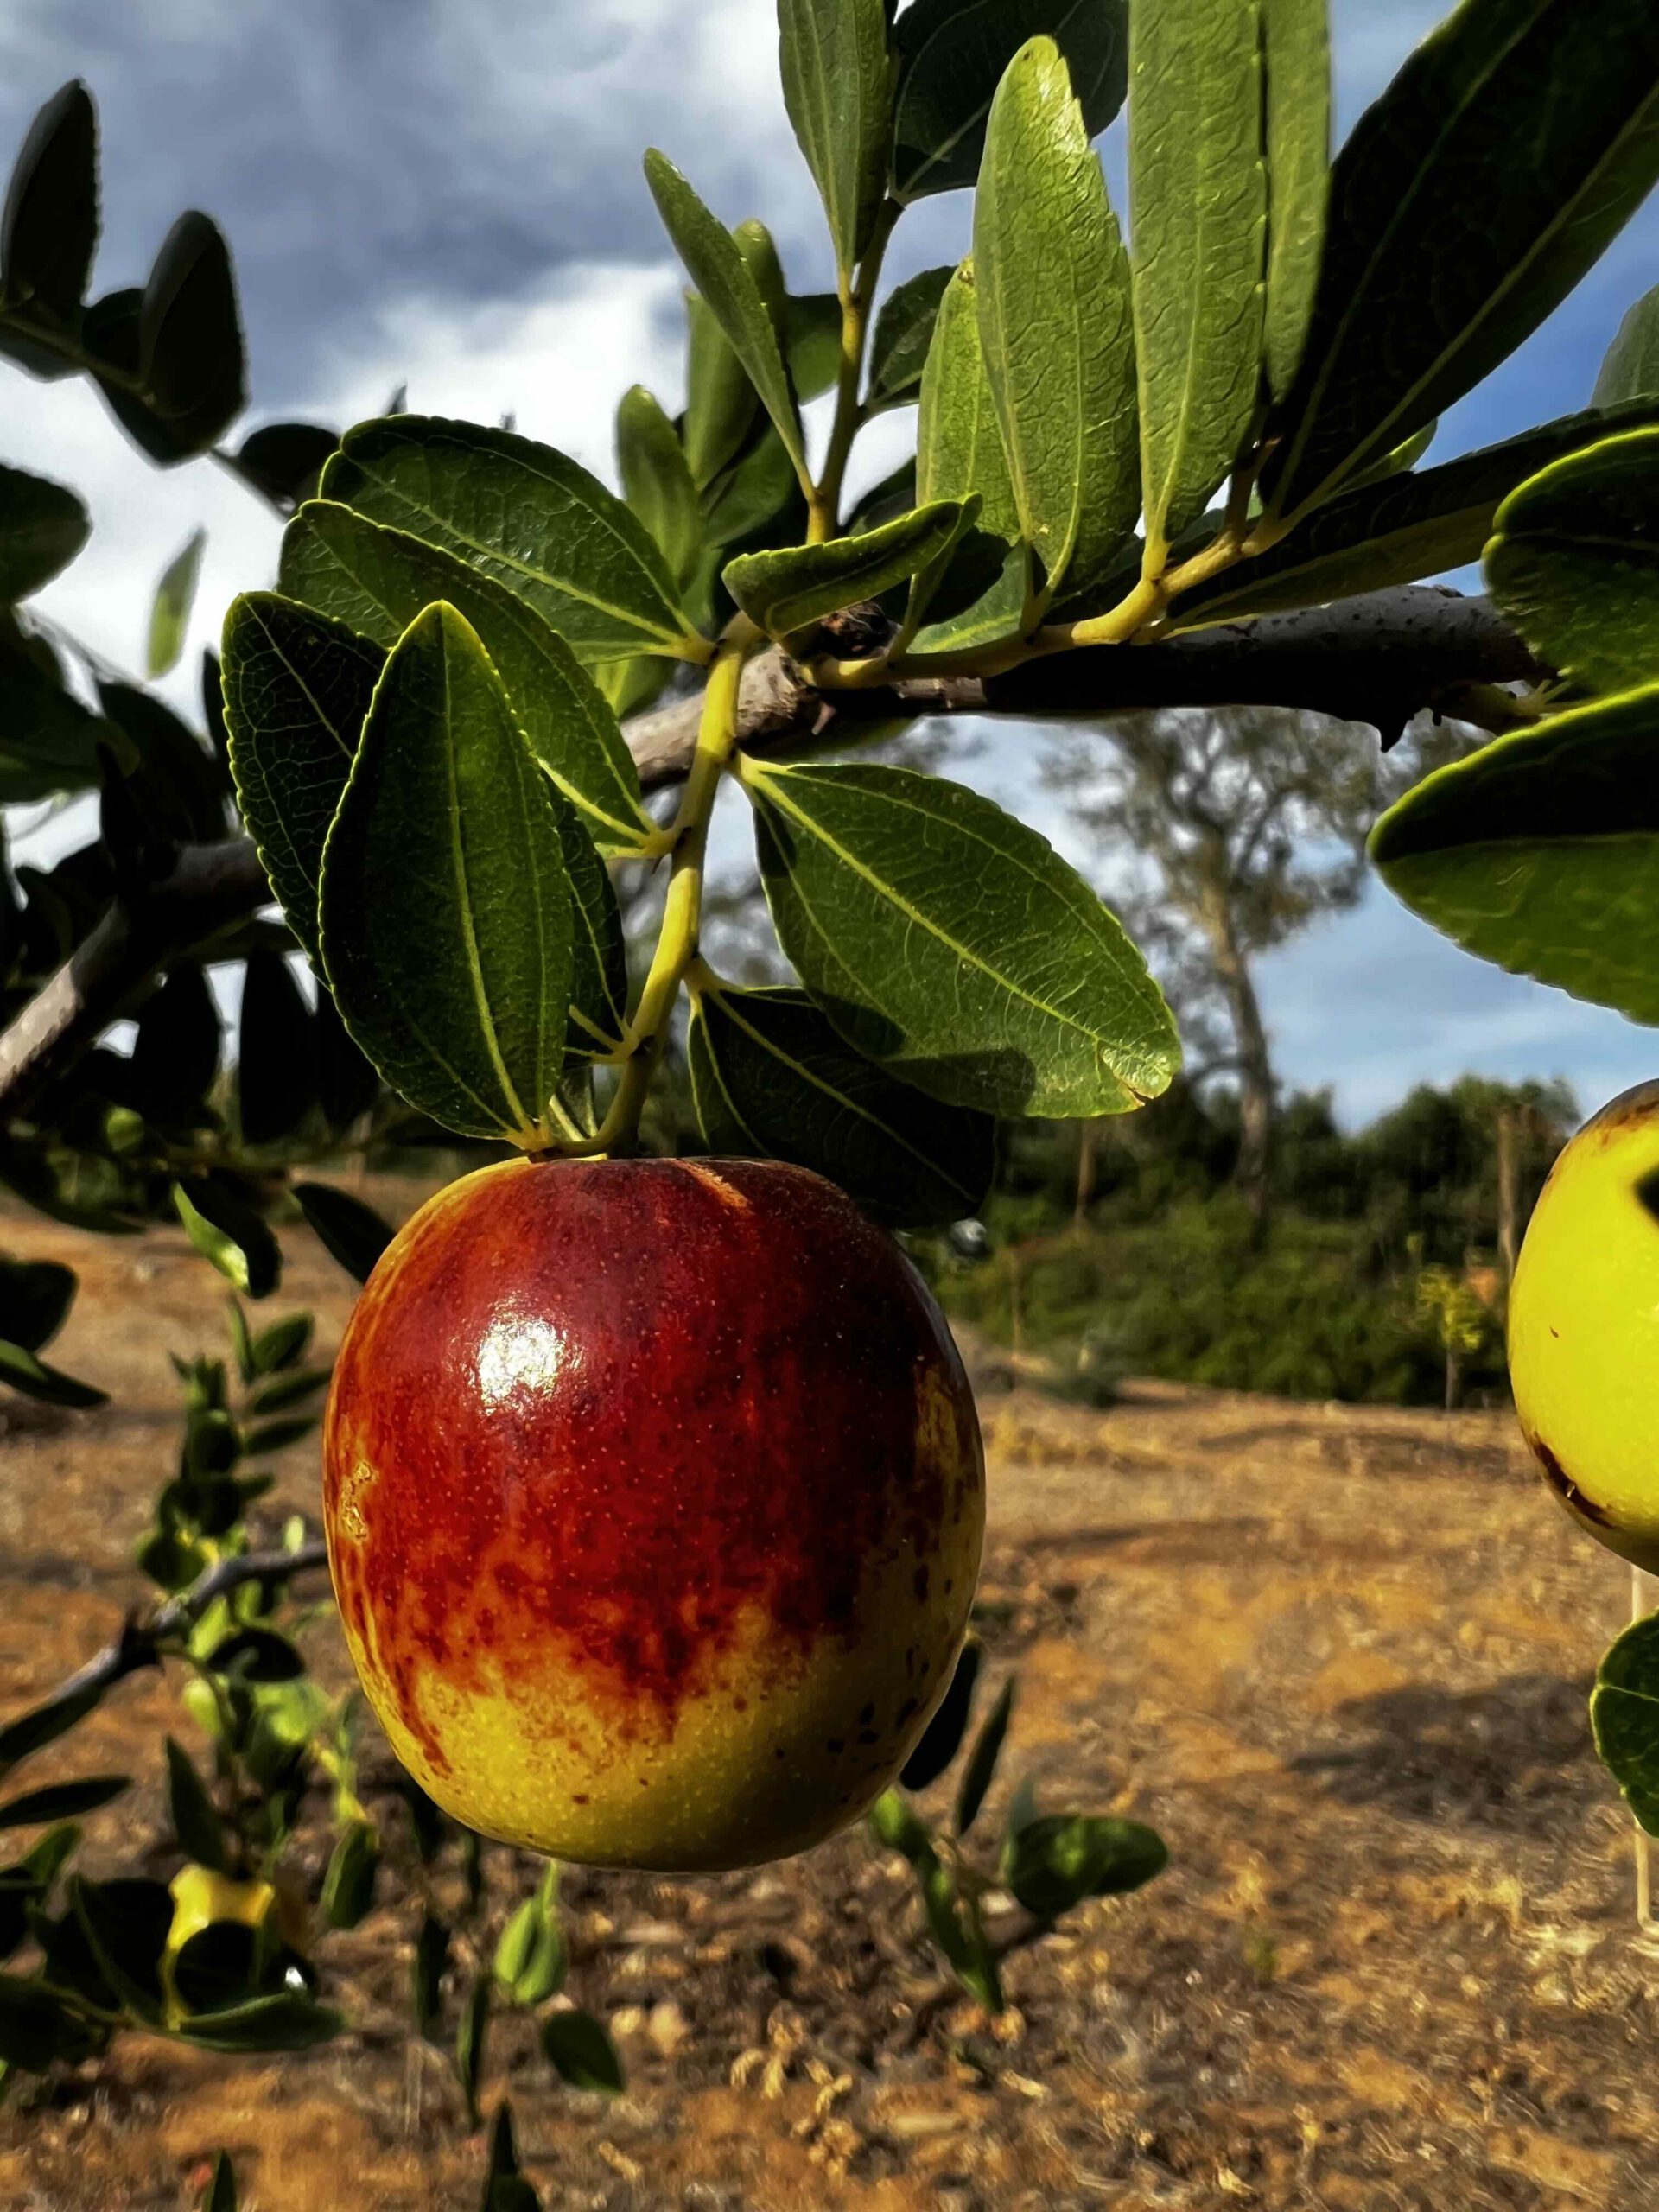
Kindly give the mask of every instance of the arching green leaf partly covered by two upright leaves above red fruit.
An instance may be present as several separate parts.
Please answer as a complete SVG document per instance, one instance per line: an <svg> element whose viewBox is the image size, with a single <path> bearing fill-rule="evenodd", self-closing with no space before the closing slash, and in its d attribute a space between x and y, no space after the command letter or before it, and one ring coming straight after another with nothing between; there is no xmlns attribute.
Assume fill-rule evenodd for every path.
<svg viewBox="0 0 1659 2212"><path fill-rule="evenodd" d="M606 852L653 845L657 825L639 803L639 772L615 712L580 653L522 597L407 531L327 500L307 502L288 524L281 580L292 597L338 615L376 646L396 646L438 599L453 606L495 664L531 752Z"/></svg>

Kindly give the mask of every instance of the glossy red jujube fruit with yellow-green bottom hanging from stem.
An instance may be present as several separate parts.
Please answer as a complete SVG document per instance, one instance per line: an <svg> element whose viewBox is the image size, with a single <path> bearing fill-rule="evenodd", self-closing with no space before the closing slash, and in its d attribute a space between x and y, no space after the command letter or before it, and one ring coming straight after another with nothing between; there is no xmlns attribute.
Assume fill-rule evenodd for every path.
<svg viewBox="0 0 1659 2212"><path fill-rule="evenodd" d="M801 1851L898 1774L980 1566L949 1329L843 1192L513 1161L376 1265L325 1427L334 1588L394 1750L560 1858Z"/></svg>

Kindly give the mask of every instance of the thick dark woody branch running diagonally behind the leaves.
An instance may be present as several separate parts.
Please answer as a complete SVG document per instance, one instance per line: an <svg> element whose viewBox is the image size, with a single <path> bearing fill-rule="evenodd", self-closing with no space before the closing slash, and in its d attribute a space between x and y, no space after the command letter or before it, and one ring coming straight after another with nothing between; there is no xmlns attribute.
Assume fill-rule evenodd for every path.
<svg viewBox="0 0 1659 2212"><path fill-rule="evenodd" d="M1106 721L1141 708L1283 706L1369 721L1389 745L1425 708L1469 710L1469 695L1542 672L1486 599L1413 584L1157 646L1062 653L989 679L920 675L818 692L772 648L743 672L739 743L748 752L821 750L931 714ZM1495 699L1480 701L1473 719L1482 706ZM626 726L648 792L684 779L699 710L699 699L677 699ZM188 845L155 889L117 900L0 1035L0 1119L27 1113L159 967L268 900L248 838Z"/></svg>

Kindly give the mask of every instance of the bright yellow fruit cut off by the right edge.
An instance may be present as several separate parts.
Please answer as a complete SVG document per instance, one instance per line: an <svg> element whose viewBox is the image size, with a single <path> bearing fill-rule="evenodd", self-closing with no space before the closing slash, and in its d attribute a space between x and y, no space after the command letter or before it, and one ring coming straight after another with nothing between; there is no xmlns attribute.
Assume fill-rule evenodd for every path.
<svg viewBox="0 0 1659 2212"><path fill-rule="evenodd" d="M1555 1161L1509 1294L1509 1378L1573 1520L1659 1573L1659 1082Z"/></svg>

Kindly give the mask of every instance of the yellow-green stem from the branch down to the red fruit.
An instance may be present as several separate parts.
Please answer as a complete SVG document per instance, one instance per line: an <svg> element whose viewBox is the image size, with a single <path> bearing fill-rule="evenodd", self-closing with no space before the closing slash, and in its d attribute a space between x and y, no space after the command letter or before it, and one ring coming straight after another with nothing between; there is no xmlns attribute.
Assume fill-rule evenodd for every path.
<svg viewBox="0 0 1659 2212"><path fill-rule="evenodd" d="M599 1152L626 1150L639 1137L639 1115L646 1106L650 1077L657 1073L668 1046L668 1024L679 987L697 960L697 938L703 922L708 825L714 814L714 794L737 745L743 661L759 644L763 644L763 633L757 630L748 615L734 615L719 641L714 666L708 672L708 690L703 692L697 752L692 754L686 790L679 799L679 812L668 825L668 849L672 852L668 863L668 896L661 909L657 951L653 953L639 1004L628 1022L622 1082L597 1135L584 1144L562 1144L557 1148L566 1159L593 1159Z"/></svg>

